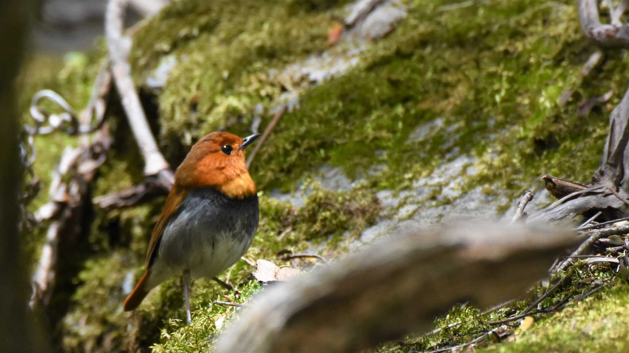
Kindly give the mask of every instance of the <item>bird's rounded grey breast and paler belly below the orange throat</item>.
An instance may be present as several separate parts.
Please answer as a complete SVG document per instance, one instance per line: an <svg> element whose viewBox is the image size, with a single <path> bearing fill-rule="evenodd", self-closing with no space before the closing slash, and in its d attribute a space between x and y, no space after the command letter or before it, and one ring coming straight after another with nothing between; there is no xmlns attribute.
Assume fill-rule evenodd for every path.
<svg viewBox="0 0 629 353"><path fill-rule="evenodd" d="M192 278L216 276L247 251L258 222L257 195L191 190L164 229L157 261L170 271L189 269Z"/></svg>

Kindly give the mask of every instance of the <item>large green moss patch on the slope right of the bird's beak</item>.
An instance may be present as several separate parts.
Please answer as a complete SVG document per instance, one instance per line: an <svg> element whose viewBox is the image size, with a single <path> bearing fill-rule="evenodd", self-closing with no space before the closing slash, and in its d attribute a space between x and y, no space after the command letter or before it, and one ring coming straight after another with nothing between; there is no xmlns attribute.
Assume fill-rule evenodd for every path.
<svg viewBox="0 0 629 353"><path fill-rule="evenodd" d="M582 124L579 102L610 89L618 102L626 55L606 53L604 65L581 82L593 49L574 6L498 1L453 16L412 3L409 18L362 65L308 90L301 109L282 117L253 165L259 183L287 188L330 163L375 188L399 190L452 153L481 158L464 190L491 185L488 192L513 196L545 173L587 181L610 111L594 109ZM576 91L573 100L560 107L567 89ZM404 143L435 117L445 128ZM370 173L374 166L379 173Z"/></svg>

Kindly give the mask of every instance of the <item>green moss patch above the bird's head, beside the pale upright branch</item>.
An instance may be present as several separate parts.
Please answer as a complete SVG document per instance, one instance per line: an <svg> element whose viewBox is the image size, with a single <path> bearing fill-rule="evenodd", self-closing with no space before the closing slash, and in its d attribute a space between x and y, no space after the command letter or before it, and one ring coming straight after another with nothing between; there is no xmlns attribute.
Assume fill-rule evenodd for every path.
<svg viewBox="0 0 629 353"><path fill-rule="evenodd" d="M138 80L164 55L174 55L159 94L162 136L189 144L210 131L249 122L257 103L269 104L284 87L272 70L323 50L343 1L182 1L134 36ZM242 129L242 128L241 128Z"/></svg>

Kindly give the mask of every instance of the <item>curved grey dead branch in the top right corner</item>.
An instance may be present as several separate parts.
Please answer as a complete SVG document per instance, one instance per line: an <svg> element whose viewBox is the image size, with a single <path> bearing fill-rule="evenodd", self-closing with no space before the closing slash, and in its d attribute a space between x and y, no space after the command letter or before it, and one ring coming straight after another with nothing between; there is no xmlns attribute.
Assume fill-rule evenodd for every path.
<svg viewBox="0 0 629 353"><path fill-rule="evenodd" d="M621 11L626 9L626 4L621 4L618 11L614 11L610 1L611 24L603 24L599 18L596 0L578 0L577 3L581 30L589 40L599 46L629 48L629 28L620 23Z"/></svg>

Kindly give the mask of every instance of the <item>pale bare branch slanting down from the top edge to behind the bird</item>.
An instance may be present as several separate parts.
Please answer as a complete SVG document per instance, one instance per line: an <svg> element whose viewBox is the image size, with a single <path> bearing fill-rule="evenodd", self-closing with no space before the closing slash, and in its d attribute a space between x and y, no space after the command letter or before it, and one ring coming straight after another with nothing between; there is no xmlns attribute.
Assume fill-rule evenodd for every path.
<svg viewBox="0 0 629 353"><path fill-rule="evenodd" d="M118 88L131 131L144 159L144 175L147 177L147 182L140 188L132 188L116 195L96 198L94 203L101 207L103 205L107 207L129 205L132 201L137 202L147 195L151 195L152 192L156 192L155 187L162 189L162 192L168 192L174 181L174 173L157 146L157 141L155 141L150 126L148 126L147 116L142 108L140 97L138 97L131 79L131 65L127 58L131 39L128 36L123 36L123 19L127 5L128 0L109 1L105 14L105 34L109 59L111 60L111 73L114 82L116 82L116 88ZM120 201L118 204L114 202L116 197Z"/></svg>

